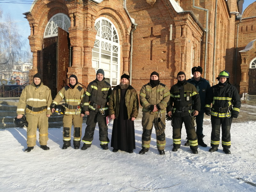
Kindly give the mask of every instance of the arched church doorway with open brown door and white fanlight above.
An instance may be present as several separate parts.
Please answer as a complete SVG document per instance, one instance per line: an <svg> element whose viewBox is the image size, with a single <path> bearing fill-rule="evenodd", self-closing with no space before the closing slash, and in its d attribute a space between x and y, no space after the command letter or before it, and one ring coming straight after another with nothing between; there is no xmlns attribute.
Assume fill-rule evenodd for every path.
<svg viewBox="0 0 256 192"><path fill-rule="evenodd" d="M44 30L43 78L52 91L52 98L67 84L70 42L67 15L58 13L47 23Z"/></svg>

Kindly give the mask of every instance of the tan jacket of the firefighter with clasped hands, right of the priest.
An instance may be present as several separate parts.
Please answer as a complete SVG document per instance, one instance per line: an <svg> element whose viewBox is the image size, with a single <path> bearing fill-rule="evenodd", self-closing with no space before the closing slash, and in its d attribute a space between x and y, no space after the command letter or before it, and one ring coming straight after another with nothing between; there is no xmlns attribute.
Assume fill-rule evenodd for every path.
<svg viewBox="0 0 256 192"><path fill-rule="evenodd" d="M159 83L156 87L147 83L142 86L140 90L140 105L143 107L142 111L151 114L157 114L158 111L152 112L149 107L156 105L161 113L165 112L168 101L170 99L170 92L165 84Z"/></svg>

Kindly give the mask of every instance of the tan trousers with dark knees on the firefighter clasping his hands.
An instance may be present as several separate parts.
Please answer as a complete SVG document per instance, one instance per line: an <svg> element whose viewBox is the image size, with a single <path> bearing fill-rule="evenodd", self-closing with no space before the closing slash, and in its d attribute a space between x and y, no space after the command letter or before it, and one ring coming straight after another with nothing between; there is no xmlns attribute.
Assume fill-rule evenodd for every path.
<svg viewBox="0 0 256 192"><path fill-rule="evenodd" d="M152 113L152 114L151 114ZM151 133L154 127L157 126L157 114L151 112L143 112L142 113L142 148L149 149L150 141L151 141ZM165 111L162 113L161 125L165 129ZM156 146L158 150L164 150L165 147L165 133L163 132L161 135L156 135Z"/></svg>

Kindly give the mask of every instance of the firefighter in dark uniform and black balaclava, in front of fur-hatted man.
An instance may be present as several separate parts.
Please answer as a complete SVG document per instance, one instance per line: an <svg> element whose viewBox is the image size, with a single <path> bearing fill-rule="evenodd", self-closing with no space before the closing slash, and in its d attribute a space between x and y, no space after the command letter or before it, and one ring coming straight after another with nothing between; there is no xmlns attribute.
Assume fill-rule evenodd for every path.
<svg viewBox="0 0 256 192"><path fill-rule="evenodd" d="M201 108L201 102L196 87L187 83L186 75L180 71L177 75L178 83L171 87L170 102L167 106L167 120L172 118L172 151L177 151L181 144L181 128L184 122L190 148L197 154L196 117Z"/></svg>

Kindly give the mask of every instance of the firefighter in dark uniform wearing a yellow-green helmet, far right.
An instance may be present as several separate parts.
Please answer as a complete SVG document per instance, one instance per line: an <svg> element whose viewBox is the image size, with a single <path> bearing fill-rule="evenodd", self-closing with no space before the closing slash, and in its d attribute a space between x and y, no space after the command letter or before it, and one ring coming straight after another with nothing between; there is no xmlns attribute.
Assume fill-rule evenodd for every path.
<svg viewBox="0 0 256 192"><path fill-rule="evenodd" d="M231 154L230 128L233 118L237 118L241 101L235 86L229 83L228 71L221 71L217 77L219 83L211 87L207 92L205 102L205 114L211 115L212 134L210 152L218 150L220 145L220 125L222 131L221 143L223 151ZM212 108L211 108L212 103ZM233 105L233 107L232 107Z"/></svg>

